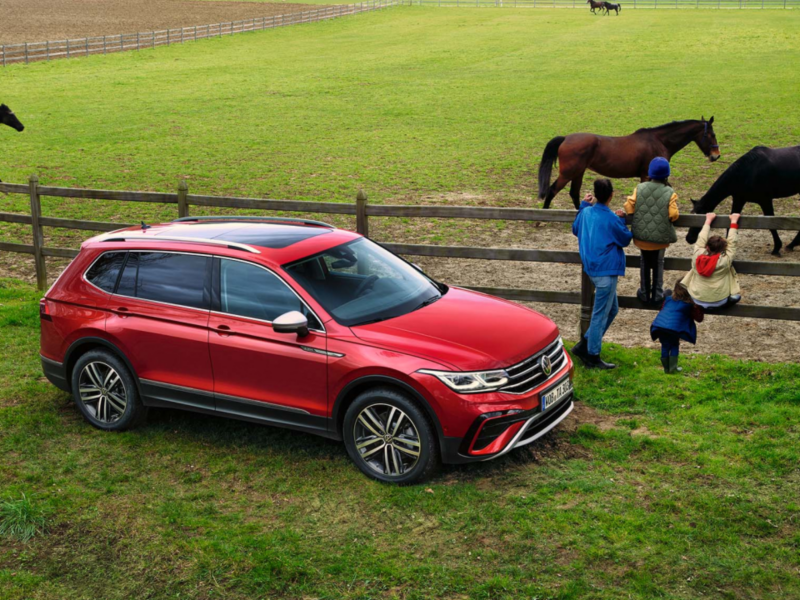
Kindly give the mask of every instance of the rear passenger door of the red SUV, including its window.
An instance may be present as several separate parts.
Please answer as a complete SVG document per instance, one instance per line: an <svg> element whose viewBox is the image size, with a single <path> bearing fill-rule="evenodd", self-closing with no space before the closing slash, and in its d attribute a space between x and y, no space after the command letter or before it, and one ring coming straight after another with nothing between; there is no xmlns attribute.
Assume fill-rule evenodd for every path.
<svg viewBox="0 0 800 600"><path fill-rule="evenodd" d="M130 360L146 404L214 410L208 255L129 252L106 332Z"/></svg>

